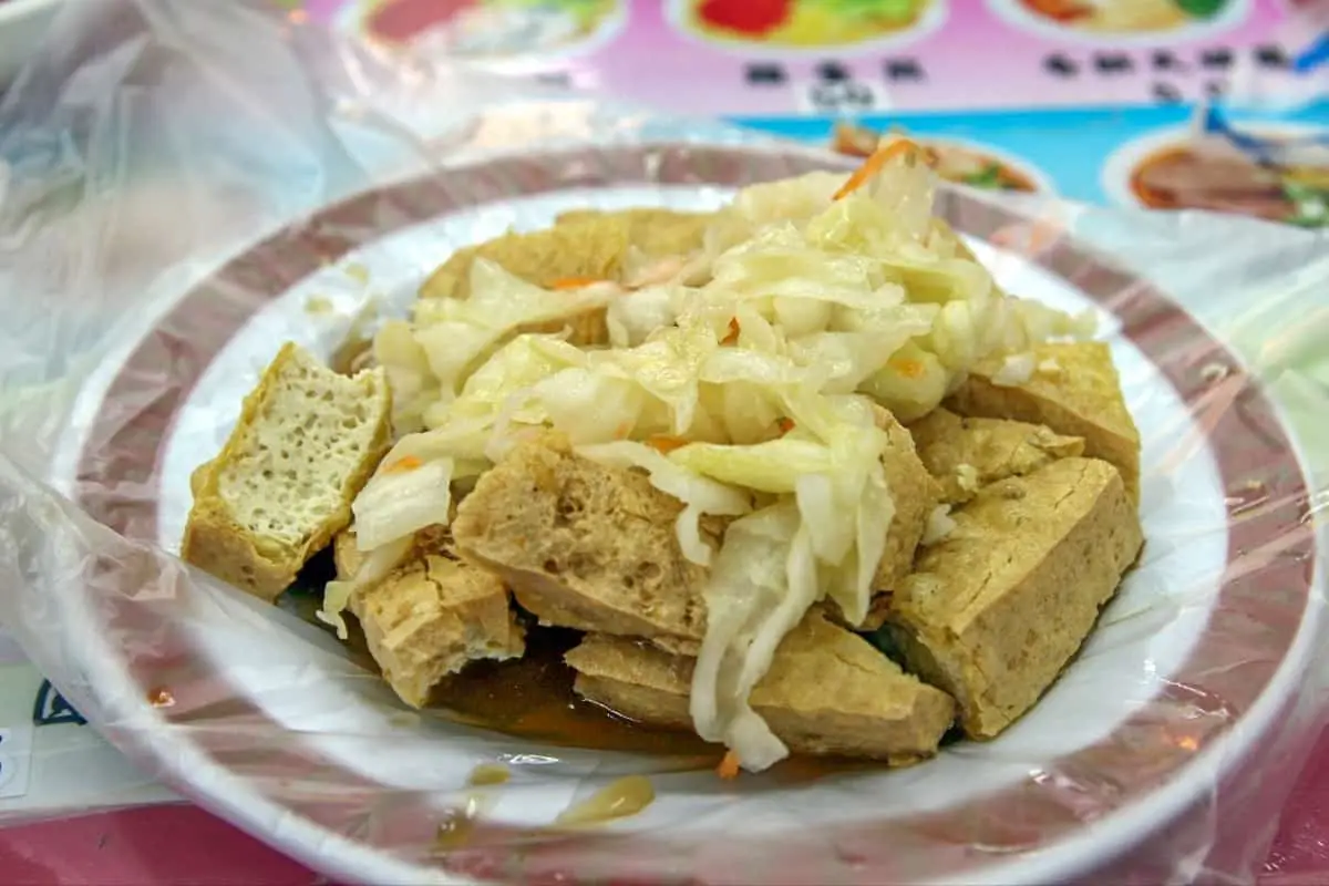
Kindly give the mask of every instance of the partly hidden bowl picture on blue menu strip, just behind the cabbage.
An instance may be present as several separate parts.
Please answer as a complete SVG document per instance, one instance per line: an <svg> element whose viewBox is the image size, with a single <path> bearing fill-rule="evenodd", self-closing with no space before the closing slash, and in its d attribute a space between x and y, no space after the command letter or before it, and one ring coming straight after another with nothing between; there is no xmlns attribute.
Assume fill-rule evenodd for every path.
<svg viewBox="0 0 1329 886"><path fill-rule="evenodd" d="M867 157L877 147L880 134L867 126L837 124L831 149L849 157ZM991 145L957 138L910 137L928 150L937 175L956 185L987 191L1053 194L1051 179L1022 157Z"/></svg>

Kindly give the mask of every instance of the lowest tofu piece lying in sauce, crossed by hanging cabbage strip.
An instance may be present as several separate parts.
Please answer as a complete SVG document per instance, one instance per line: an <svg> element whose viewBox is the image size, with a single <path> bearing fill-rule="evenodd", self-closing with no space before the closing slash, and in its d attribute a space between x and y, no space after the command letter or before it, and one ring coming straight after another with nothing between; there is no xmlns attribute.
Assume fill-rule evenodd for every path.
<svg viewBox="0 0 1329 886"><path fill-rule="evenodd" d="M566 655L579 695L651 725L691 729L694 660L589 635ZM796 753L908 764L937 752L954 701L867 640L809 612L752 689L754 709Z"/></svg>

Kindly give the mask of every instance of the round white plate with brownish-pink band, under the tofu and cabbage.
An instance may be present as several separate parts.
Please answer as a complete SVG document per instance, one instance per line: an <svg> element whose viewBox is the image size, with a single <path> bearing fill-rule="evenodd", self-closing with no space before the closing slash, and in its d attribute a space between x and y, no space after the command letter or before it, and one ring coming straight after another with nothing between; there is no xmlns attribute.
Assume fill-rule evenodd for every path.
<svg viewBox="0 0 1329 886"><path fill-rule="evenodd" d="M508 226L586 206L710 207L828 162L796 147L578 147L360 194L145 316L85 387L56 470L100 521L174 550L190 470L218 450L283 340L331 353L369 295L400 311L451 250ZM93 558L51 553L48 569L84 576L53 584L52 627L112 740L332 877L1065 882L1204 798L1245 756L1294 696L1321 604L1306 482L1261 388L1180 307L1073 238L1025 258L1015 246L1041 227L1007 206L950 190L940 211L1009 288L1100 313L1143 432L1148 543L1083 654L995 741L904 770L722 785L710 770L421 719L326 634L110 541ZM311 298L338 311L311 313ZM470 798L472 768L494 760L512 781L489 789L470 842L440 853L439 822ZM548 828L627 772L655 773L642 814Z"/></svg>

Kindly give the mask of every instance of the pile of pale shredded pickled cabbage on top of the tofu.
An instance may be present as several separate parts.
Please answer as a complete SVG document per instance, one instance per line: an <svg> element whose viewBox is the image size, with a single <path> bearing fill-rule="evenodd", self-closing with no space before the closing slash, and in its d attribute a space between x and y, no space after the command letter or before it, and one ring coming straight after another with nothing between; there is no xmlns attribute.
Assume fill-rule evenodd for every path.
<svg viewBox="0 0 1329 886"><path fill-rule="evenodd" d="M748 693L816 602L867 616L896 514L881 409L910 421L978 360L1092 332L1091 315L1003 294L933 219L922 163L888 159L835 199L844 185L815 173L744 189L696 254L629 255L626 287L546 291L477 260L469 299L423 300L411 324L385 327L376 352L399 429L416 432L389 458L424 465L380 472L360 494L360 546L372 557L445 521L449 480L473 480L542 428L586 458L642 469L683 503L683 554L710 565L696 731L747 769L783 757ZM607 347L549 335L601 308ZM718 551L706 514L736 518ZM930 539L948 519L933 514Z"/></svg>

